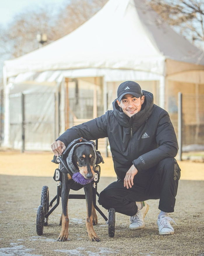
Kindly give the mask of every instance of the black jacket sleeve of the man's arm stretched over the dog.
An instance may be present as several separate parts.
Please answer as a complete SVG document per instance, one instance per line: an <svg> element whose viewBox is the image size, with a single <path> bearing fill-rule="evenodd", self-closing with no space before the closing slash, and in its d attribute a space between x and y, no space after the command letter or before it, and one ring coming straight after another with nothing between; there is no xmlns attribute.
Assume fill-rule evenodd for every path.
<svg viewBox="0 0 204 256"><path fill-rule="evenodd" d="M81 137L86 140L96 140L107 137L106 114L67 129L57 140L64 142L67 147L70 142Z"/></svg>

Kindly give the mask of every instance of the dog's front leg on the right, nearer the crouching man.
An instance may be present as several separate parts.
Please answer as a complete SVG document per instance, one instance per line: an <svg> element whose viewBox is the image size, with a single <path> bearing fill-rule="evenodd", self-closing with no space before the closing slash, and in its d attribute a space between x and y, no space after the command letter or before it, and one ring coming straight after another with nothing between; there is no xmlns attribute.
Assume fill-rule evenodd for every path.
<svg viewBox="0 0 204 256"><path fill-rule="evenodd" d="M93 194L92 194L92 183L84 185L86 205L87 205L87 219L86 227L89 239L91 241L100 242L100 238L96 235L96 232L93 228L93 218L92 218L92 204L93 204Z"/></svg>

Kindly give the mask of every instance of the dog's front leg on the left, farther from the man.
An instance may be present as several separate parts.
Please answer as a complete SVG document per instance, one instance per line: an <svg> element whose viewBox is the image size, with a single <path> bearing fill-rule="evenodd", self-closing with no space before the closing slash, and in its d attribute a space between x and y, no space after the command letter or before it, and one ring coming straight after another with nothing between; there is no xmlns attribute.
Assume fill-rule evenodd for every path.
<svg viewBox="0 0 204 256"><path fill-rule="evenodd" d="M68 239L68 196L69 196L70 187L68 186L68 178L65 173L62 175L62 190L61 190L61 204L62 204L62 221L61 221L61 232L57 241L64 242Z"/></svg>

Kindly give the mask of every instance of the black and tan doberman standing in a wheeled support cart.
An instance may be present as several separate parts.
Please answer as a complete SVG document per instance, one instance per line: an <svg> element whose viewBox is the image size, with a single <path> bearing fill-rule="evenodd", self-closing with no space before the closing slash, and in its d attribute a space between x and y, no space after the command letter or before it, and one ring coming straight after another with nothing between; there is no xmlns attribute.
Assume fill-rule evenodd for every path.
<svg viewBox="0 0 204 256"><path fill-rule="evenodd" d="M82 144L75 148L73 152L73 164L78 167L79 172L86 179L92 179L94 177L93 163L94 163L94 150L90 145ZM58 241L67 241L68 239L68 195L71 188L74 186L74 181L70 174L62 173L62 190L61 190L61 202L62 202L62 216L61 225L62 229L58 237ZM92 194L92 183L81 185L80 188L84 187L86 206L87 206L87 219L86 227L88 236L91 241L99 242L100 238L94 231L93 224L98 223L95 208L93 206L93 194Z"/></svg>

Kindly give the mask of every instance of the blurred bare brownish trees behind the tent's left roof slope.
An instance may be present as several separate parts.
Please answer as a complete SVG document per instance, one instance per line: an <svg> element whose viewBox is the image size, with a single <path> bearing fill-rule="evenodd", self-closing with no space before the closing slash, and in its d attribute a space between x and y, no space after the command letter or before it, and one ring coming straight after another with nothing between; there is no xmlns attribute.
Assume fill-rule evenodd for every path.
<svg viewBox="0 0 204 256"><path fill-rule="evenodd" d="M92 17L106 1L71 0L58 12L51 5L25 10L0 30L0 58L16 58L37 49L37 34L47 34L45 44L67 35Z"/></svg>

